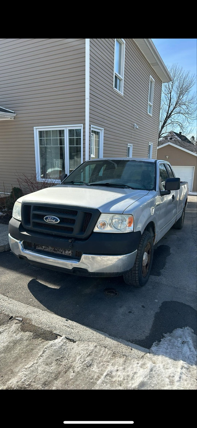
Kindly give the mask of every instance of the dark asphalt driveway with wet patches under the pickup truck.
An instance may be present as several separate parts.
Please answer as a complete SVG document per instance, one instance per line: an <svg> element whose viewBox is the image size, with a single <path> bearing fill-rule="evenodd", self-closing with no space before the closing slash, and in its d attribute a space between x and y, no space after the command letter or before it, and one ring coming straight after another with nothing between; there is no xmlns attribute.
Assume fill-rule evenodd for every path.
<svg viewBox="0 0 197 428"><path fill-rule="evenodd" d="M176 328L196 334L197 198L188 199L183 229L171 229L157 244L145 287L34 267L6 252L0 293L148 349Z"/></svg>

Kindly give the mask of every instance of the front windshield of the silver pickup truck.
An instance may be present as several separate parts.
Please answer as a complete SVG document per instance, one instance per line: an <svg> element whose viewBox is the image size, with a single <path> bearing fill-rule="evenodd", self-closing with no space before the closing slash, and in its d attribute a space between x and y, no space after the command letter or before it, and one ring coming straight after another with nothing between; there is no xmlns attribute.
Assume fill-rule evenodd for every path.
<svg viewBox="0 0 197 428"><path fill-rule="evenodd" d="M153 190L154 180L154 162L102 159L82 163L61 184Z"/></svg>

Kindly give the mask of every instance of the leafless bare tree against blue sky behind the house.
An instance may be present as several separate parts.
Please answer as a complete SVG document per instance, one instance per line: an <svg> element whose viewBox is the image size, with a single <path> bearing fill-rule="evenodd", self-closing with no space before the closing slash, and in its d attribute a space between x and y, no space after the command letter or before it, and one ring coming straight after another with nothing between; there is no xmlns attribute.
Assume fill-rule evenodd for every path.
<svg viewBox="0 0 197 428"><path fill-rule="evenodd" d="M172 82L163 83L159 119L159 138L177 128L183 133L196 117L196 94L191 93L196 77L173 64L169 68ZM188 133L187 133L188 134Z"/></svg>

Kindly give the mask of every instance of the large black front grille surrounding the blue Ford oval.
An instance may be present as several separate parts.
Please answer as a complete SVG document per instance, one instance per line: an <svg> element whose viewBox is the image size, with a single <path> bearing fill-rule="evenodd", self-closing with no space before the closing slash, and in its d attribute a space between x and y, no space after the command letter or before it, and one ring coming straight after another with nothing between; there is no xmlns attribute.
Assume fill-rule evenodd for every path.
<svg viewBox="0 0 197 428"><path fill-rule="evenodd" d="M73 238L87 238L93 232L100 211L64 206L26 204L22 205L22 224L25 229ZM58 217L58 223L47 223L46 216Z"/></svg>

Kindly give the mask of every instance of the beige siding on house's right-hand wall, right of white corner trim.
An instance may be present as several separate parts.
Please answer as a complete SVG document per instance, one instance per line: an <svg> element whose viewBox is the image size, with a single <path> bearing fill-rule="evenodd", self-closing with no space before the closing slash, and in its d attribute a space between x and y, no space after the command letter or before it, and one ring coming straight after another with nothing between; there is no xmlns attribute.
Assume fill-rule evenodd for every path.
<svg viewBox="0 0 197 428"><path fill-rule="evenodd" d="M104 128L104 157L156 157L162 82L133 39L125 39L124 96L113 90L115 39L90 39L90 125ZM155 80L153 116L148 115L150 74ZM134 129L134 123L139 127Z"/></svg>

